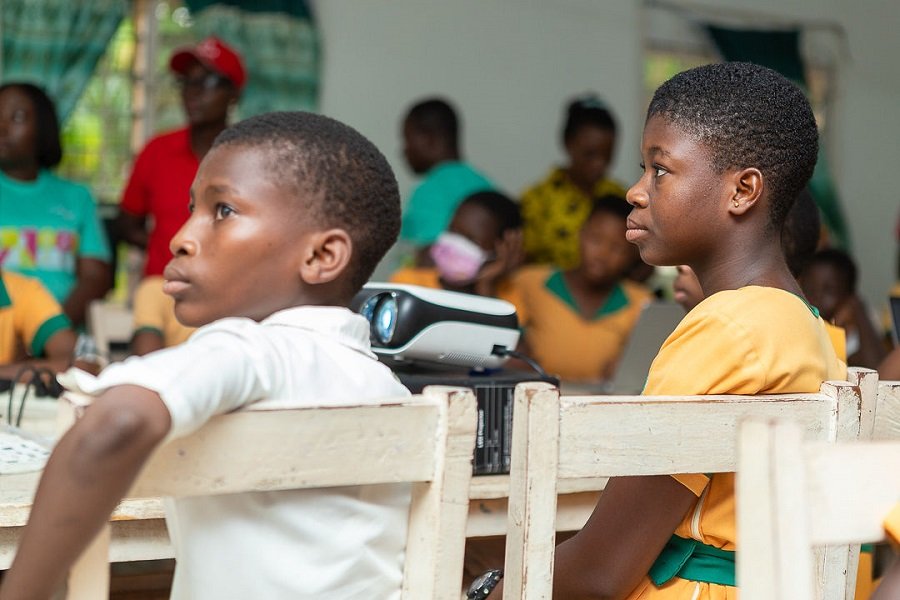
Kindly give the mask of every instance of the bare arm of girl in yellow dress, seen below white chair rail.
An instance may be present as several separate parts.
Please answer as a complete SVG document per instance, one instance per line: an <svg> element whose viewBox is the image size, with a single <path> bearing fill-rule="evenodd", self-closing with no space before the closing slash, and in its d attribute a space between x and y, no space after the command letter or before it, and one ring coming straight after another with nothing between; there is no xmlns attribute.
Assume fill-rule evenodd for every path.
<svg viewBox="0 0 900 600"><path fill-rule="evenodd" d="M668 475L610 479L582 530L556 547L553 597L627 597L696 501Z"/></svg>

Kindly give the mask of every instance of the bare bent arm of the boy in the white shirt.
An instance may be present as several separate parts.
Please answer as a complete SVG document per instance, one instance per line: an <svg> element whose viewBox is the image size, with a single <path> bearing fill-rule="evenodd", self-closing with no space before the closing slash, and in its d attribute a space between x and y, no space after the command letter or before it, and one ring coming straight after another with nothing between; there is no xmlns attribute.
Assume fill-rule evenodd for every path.
<svg viewBox="0 0 900 600"><path fill-rule="evenodd" d="M171 427L155 393L111 388L50 456L0 597L49 598Z"/></svg>

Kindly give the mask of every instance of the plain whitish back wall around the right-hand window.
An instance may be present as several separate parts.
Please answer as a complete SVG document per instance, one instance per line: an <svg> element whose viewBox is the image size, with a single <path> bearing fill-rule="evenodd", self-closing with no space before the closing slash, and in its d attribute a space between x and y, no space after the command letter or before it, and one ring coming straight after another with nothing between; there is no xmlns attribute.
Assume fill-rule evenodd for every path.
<svg viewBox="0 0 900 600"><path fill-rule="evenodd" d="M690 3L696 6L697 3ZM712 5L712 2L709 2ZM887 0L719 0L775 20L826 20L847 32L829 143L862 291L880 303L894 280L900 167L900 20ZM424 95L452 98L468 158L512 194L561 158L568 97L595 90L618 115L613 175L637 176L643 13L638 0L318 0L322 111L369 136L406 194L399 121ZM812 13L812 14L811 14Z"/></svg>

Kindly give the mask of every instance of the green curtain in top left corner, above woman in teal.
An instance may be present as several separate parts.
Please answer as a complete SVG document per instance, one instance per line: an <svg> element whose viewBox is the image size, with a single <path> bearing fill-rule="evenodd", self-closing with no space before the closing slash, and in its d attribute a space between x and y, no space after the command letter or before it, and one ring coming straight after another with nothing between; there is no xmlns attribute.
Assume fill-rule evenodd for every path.
<svg viewBox="0 0 900 600"><path fill-rule="evenodd" d="M129 6L128 0L0 0L0 77L42 86L64 122Z"/></svg>

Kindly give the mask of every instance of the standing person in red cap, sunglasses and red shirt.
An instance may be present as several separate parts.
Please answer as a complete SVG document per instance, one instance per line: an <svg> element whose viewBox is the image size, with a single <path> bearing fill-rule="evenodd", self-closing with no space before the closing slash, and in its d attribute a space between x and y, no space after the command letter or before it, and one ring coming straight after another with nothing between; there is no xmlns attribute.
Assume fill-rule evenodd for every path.
<svg viewBox="0 0 900 600"><path fill-rule="evenodd" d="M229 109L247 79L240 56L215 37L176 50L169 67L178 78L188 125L147 143L119 207L119 235L146 249L144 276L161 275L172 257L169 241L188 219L194 175L227 127Z"/></svg>

